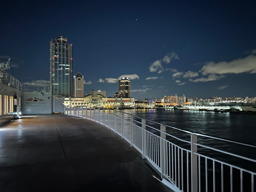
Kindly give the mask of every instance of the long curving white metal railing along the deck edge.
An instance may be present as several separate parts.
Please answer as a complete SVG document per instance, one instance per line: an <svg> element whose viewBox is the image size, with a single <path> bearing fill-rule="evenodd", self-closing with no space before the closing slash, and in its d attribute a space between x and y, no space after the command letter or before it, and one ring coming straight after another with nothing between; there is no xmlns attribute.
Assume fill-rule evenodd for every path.
<svg viewBox="0 0 256 192"><path fill-rule="evenodd" d="M117 110L64 107L63 112L121 135L174 191L254 191L256 160L239 154L249 148L247 153L255 155L254 145L192 133Z"/></svg>

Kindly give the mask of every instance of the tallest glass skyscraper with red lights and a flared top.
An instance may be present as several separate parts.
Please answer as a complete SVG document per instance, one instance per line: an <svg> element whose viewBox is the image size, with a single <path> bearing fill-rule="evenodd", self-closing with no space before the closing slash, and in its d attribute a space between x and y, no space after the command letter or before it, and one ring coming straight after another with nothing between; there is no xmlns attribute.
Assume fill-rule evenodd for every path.
<svg viewBox="0 0 256 192"><path fill-rule="evenodd" d="M72 97L72 44L62 36L50 41L50 84L52 95Z"/></svg>

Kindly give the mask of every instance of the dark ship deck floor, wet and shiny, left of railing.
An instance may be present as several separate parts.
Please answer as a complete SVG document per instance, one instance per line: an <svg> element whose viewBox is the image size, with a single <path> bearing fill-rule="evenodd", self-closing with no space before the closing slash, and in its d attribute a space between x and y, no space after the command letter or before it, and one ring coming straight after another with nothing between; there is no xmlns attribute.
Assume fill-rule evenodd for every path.
<svg viewBox="0 0 256 192"><path fill-rule="evenodd" d="M168 191L140 153L99 123L30 115L0 128L0 191Z"/></svg>

